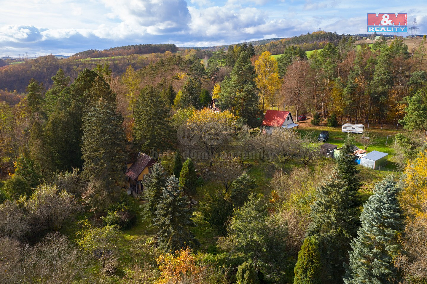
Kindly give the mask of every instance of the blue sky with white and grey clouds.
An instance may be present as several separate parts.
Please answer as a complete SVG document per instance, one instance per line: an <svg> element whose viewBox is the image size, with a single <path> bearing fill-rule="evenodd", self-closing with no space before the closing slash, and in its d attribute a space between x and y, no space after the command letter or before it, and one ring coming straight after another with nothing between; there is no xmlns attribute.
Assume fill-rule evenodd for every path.
<svg viewBox="0 0 427 284"><path fill-rule="evenodd" d="M416 18L427 33L425 0L0 0L0 58L143 43L228 45L319 29L366 34L367 13L407 13L408 29Z"/></svg>

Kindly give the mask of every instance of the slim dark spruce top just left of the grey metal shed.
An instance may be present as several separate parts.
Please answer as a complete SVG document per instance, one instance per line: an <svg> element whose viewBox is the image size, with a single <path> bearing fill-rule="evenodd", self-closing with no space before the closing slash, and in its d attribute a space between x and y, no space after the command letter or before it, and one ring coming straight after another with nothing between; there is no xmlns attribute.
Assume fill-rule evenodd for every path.
<svg viewBox="0 0 427 284"><path fill-rule="evenodd" d="M348 139L344 141L342 148L339 149L339 156L336 159L336 171L339 178L347 184L353 206L359 206L360 201L356 200L355 197L360 187L359 170L354 158L354 145Z"/></svg>

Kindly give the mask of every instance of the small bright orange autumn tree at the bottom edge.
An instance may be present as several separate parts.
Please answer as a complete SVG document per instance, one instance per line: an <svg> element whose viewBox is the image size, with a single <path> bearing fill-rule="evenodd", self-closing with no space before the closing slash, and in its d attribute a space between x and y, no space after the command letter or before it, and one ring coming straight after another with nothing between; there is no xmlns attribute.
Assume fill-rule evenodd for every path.
<svg viewBox="0 0 427 284"><path fill-rule="evenodd" d="M197 258L191 254L190 249L181 249L159 256L157 264L161 276L156 284L202 283L201 273L205 267L196 264ZM189 282L191 281L191 282Z"/></svg>

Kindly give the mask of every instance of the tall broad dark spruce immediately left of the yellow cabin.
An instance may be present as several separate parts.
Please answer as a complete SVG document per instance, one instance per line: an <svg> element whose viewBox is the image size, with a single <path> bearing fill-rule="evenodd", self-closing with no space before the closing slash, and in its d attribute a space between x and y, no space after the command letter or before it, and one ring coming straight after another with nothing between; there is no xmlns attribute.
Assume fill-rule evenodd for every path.
<svg viewBox="0 0 427 284"><path fill-rule="evenodd" d="M99 99L83 119L82 158L85 180L107 186L123 179L126 136L115 107Z"/></svg>

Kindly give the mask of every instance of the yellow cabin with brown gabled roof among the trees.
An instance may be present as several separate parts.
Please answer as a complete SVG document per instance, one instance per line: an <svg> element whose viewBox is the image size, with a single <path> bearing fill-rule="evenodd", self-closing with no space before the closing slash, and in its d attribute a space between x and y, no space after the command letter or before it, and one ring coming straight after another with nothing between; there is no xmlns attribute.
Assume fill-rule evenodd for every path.
<svg viewBox="0 0 427 284"><path fill-rule="evenodd" d="M127 164L126 182L128 184L128 194L132 194L135 198L141 194L143 191L142 181L146 174L151 172L151 167L155 162L152 157L139 152L136 161Z"/></svg>

